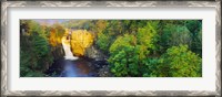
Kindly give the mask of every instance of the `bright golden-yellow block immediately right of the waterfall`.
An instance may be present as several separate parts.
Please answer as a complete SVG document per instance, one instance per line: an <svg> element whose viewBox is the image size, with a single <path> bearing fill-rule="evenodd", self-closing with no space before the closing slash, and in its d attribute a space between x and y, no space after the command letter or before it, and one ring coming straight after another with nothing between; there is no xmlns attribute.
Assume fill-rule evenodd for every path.
<svg viewBox="0 0 222 97"><path fill-rule="evenodd" d="M85 48L93 43L92 33L87 30L75 30L71 33L71 51L75 56L83 56Z"/></svg>

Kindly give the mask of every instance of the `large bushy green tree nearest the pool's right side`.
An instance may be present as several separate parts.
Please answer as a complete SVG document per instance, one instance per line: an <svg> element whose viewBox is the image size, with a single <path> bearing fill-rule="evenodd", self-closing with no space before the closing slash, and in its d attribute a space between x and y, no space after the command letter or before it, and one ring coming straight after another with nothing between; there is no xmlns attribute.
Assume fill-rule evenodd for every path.
<svg viewBox="0 0 222 97"><path fill-rule="evenodd" d="M112 64L111 72L115 76L129 76L129 74L137 75L138 57L134 56L135 37L133 35L124 34L119 36L110 46L109 63Z"/></svg>

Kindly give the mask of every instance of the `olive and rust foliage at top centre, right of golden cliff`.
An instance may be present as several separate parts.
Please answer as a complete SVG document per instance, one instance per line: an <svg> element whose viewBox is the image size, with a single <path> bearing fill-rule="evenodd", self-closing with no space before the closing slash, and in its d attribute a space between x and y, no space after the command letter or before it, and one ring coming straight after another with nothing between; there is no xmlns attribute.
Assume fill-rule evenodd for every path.
<svg viewBox="0 0 222 97"><path fill-rule="evenodd" d="M147 21L142 20L99 20L95 23L98 32L95 44L104 53L109 53L109 48L119 35L135 34L138 28L147 25Z"/></svg>

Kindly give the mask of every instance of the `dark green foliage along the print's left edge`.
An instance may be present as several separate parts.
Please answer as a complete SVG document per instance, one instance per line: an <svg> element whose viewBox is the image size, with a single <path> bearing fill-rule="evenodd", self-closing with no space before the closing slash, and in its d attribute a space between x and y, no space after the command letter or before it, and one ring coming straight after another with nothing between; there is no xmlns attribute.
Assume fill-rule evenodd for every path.
<svg viewBox="0 0 222 97"><path fill-rule="evenodd" d="M53 57L47 40L47 30L34 21L22 21L20 34L20 76L44 76L46 66Z"/></svg>

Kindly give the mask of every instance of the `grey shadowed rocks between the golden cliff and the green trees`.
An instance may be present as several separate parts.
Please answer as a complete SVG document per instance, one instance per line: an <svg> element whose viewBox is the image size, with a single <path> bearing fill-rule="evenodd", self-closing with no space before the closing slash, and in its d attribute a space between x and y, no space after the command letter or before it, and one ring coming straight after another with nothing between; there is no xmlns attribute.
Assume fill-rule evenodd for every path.
<svg viewBox="0 0 222 97"><path fill-rule="evenodd" d="M89 58L94 58L95 61L105 61L107 60L107 56L101 51L95 48L93 45L85 50L84 55Z"/></svg>

